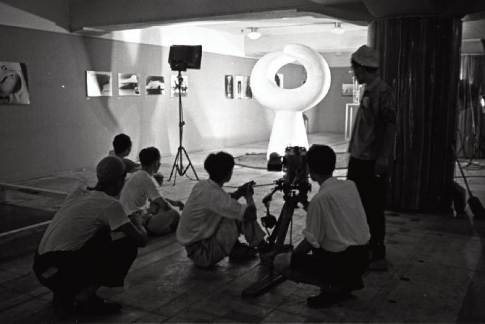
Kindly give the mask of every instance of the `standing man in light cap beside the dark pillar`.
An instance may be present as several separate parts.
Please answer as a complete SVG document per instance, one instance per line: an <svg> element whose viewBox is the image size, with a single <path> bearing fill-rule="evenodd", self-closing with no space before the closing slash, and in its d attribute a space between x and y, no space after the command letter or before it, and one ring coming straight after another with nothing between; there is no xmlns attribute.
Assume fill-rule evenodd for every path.
<svg viewBox="0 0 485 324"><path fill-rule="evenodd" d="M387 270L384 209L387 198L389 159L396 134L396 108L391 88L377 74L377 52L361 46L352 54L352 68L365 91L357 111L349 143L347 178L356 183L371 232L371 266Z"/></svg>

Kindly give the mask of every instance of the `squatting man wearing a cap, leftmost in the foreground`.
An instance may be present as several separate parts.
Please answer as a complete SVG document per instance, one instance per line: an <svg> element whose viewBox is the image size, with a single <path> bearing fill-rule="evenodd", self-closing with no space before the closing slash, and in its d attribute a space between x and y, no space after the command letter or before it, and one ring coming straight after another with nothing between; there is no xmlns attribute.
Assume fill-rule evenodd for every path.
<svg viewBox="0 0 485 324"><path fill-rule="evenodd" d="M33 271L54 292L54 311L105 314L118 304L97 297L101 287L121 287L138 247L146 245L146 232L129 221L114 197L123 187L125 164L115 156L97 165L94 188L75 188L49 224L37 253ZM112 240L111 231L125 234Z"/></svg>

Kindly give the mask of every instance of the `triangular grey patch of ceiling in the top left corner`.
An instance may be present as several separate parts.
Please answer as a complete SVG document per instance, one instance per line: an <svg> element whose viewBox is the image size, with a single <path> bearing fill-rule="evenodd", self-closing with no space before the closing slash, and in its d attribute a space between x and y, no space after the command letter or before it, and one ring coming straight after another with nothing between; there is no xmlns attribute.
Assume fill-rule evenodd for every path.
<svg viewBox="0 0 485 324"><path fill-rule="evenodd" d="M23 10L32 15L52 21L57 26L69 31L69 2L65 0L2 0L2 3Z"/></svg>

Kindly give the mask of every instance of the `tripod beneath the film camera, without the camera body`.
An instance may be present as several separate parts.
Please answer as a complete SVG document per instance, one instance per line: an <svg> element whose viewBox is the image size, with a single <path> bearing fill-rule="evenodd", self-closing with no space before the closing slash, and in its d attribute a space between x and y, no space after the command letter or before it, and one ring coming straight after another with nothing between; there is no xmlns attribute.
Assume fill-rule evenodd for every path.
<svg viewBox="0 0 485 324"><path fill-rule="evenodd" d="M271 193L263 198L263 204L266 206L266 216L261 218L261 222L266 229L275 227L268 238L268 243L273 246L273 255L276 256L279 253L288 252L287 246L285 246L285 239L290 228L290 238L291 238L291 225L293 220L293 213L298 204L303 205L303 209L307 210L308 207L308 191L310 190L310 185L307 180L304 181L294 181L298 182L297 185L287 184L283 179L276 181L276 187L272 189ZM281 208L278 219L269 213L269 204L271 202L272 196L276 191L283 191L283 199L285 203ZM297 192L298 191L298 192ZM290 249L292 246L290 244ZM251 284L249 287L242 290L242 297L253 297L260 293L274 287L280 282L284 281L285 277L281 274L275 273L273 263L269 266L268 274L262 277L260 280Z"/></svg>

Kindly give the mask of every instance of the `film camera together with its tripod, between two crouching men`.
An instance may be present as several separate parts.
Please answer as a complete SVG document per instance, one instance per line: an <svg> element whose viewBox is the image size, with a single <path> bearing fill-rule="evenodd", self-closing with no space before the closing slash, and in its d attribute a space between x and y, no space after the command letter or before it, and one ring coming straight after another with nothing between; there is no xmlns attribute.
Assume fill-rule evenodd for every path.
<svg viewBox="0 0 485 324"><path fill-rule="evenodd" d="M298 205L303 209L308 207L308 183L307 150L304 147L289 146L285 149L285 155L271 153L268 161L268 171L284 171L281 179L275 181L275 187L263 198L266 207L266 216L261 217L261 223L265 227L268 238L267 242L272 246L270 253L273 257L282 252L292 250L291 224L293 212ZM283 192L285 201L279 217L270 214L270 203L276 191ZM285 244L286 235L290 228L290 244ZM269 229L273 229L271 234ZM273 262L269 264L269 273L242 291L242 297L252 297L277 285L284 280L281 274L275 273Z"/></svg>

